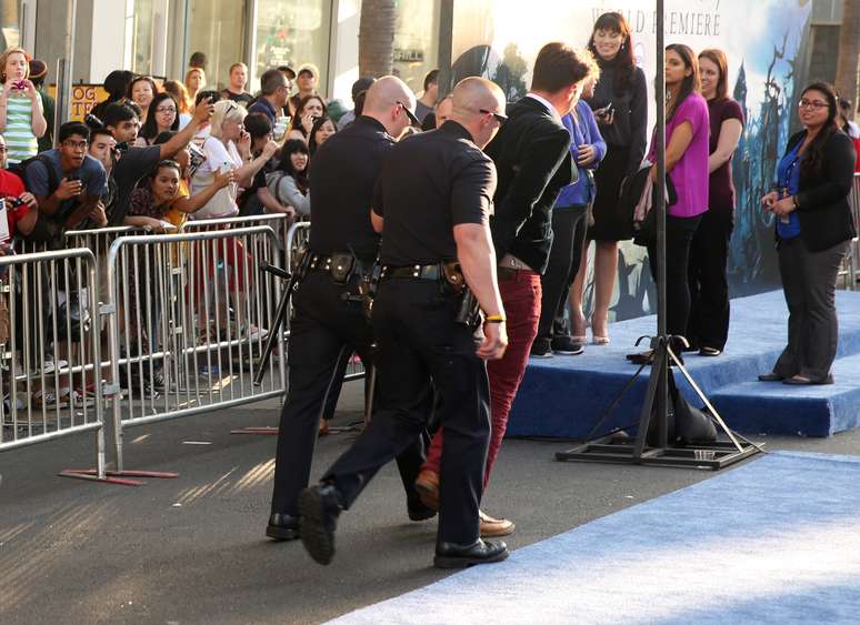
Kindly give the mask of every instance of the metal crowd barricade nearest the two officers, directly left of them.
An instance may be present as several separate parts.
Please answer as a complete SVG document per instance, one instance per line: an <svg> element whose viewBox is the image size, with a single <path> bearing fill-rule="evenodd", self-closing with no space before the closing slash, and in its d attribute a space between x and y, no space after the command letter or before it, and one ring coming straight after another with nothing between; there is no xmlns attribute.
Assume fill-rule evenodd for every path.
<svg viewBox="0 0 860 625"><path fill-rule="evenodd" d="M261 386L252 384L283 288L260 268L279 266L279 256L266 225L113 241L102 313L119 472L128 427L283 394L282 357L271 359Z"/></svg>

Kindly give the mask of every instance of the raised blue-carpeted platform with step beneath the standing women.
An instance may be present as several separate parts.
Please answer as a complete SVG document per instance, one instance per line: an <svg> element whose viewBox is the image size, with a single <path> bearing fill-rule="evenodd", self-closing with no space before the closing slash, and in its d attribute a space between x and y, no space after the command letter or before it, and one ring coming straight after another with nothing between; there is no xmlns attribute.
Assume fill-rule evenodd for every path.
<svg viewBox="0 0 860 625"><path fill-rule="evenodd" d="M732 300L726 352L684 355L697 384L736 430L751 434L828 436L860 425L860 293L839 291L837 384L796 386L756 382L770 371L786 341L788 311L782 291ZM610 325L612 343L588 345L581 356L532 359L511 410L511 436L581 438L598 422L636 366L624 355L639 336L653 334L653 316ZM609 426L636 423L647 386L646 369L613 412ZM680 376L678 377L680 381ZM691 389L680 384L694 405ZM604 431L606 431L604 430Z"/></svg>

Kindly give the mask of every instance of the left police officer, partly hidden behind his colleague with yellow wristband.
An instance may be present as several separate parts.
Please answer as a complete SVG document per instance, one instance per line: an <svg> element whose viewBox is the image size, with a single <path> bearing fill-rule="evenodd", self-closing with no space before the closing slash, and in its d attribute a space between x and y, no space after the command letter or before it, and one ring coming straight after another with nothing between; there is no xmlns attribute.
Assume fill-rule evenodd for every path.
<svg viewBox="0 0 860 625"><path fill-rule="evenodd" d="M294 317L288 343L289 391L281 412L274 465L274 492L266 535L298 537L298 496L308 485L322 405L343 353L371 362L372 331L362 312L359 284L373 265L379 234L370 222L373 187L394 137L413 123L416 100L400 79L378 80L364 111L313 157L309 256L294 291ZM428 405L424 410L431 410ZM409 517L434 515L414 491L424 458L420 436L398 457L407 490Z"/></svg>

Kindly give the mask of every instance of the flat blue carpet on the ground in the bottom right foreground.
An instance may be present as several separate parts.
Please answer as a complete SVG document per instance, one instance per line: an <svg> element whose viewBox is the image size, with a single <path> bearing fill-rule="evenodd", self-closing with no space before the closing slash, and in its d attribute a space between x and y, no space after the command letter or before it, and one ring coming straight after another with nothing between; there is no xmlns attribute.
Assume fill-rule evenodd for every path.
<svg viewBox="0 0 860 625"><path fill-rule="evenodd" d="M854 624L859 483L773 453L334 623Z"/></svg>

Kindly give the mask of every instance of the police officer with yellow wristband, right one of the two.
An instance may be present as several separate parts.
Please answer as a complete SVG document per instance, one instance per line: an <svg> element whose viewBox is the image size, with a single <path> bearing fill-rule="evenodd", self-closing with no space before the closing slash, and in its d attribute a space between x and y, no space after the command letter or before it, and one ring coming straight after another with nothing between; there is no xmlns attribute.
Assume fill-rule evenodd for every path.
<svg viewBox="0 0 860 625"><path fill-rule="evenodd" d="M451 120L403 140L386 161L372 215L383 232L372 317L380 410L321 484L299 497L301 538L321 564L333 557L340 511L426 426L421 409L431 386L441 395L446 429L434 564L459 567L508 556L504 543L478 535L490 435L484 360L501 357L507 346L489 230L496 168L481 148L504 119L502 91L468 78L453 91ZM478 305L469 311L470 293L486 315L479 343L481 320Z"/></svg>

